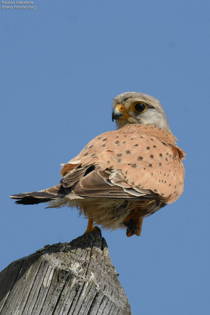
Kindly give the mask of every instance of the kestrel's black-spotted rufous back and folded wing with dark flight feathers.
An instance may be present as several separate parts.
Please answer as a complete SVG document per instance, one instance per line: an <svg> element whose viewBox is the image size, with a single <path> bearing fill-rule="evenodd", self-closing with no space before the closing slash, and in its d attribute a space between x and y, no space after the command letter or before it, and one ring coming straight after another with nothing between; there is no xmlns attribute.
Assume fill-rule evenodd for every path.
<svg viewBox="0 0 210 315"><path fill-rule="evenodd" d="M61 184L79 196L162 198L174 202L183 191L184 152L172 134L153 126L127 125L91 140L63 164Z"/></svg>

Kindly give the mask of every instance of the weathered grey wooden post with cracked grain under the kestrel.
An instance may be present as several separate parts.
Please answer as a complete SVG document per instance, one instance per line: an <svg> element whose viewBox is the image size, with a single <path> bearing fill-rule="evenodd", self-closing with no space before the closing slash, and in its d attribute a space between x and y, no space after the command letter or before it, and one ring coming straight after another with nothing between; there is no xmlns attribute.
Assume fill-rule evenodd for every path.
<svg viewBox="0 0 210 315"><path fill-rule="evenodd" d="M0 273L1 315L131 315L98 232L46 245Z"/></svg>

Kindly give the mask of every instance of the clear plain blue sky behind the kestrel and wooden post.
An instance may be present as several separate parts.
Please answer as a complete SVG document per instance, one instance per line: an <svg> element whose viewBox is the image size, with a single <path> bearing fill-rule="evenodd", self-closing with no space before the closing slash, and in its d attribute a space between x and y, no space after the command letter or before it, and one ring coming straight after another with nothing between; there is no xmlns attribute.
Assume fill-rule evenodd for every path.
<svg viewBox="0 0 210 315"><path fill-rule="evenodd" d="M158 98L187 153L185 190L143 222L106 232L133 315L207 314L209 297L209 1L35 0L1 10L0 269L83 234L77 210L8 195L60 180L96 135L115 129L114 96Z"/></svg>

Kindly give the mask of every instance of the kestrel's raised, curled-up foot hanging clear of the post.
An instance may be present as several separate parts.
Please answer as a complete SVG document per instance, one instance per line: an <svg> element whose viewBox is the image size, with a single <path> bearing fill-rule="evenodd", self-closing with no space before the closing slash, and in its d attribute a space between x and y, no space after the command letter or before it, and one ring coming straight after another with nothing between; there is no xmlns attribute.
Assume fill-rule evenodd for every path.
<svg viewBox="0 0 210 315"><path fill-rule="evenodd" d="M139 219L139 209L135 208L124 220L124 225L127 226L126 235L130 237L132 235L141 235L143 218Z"/></svg>

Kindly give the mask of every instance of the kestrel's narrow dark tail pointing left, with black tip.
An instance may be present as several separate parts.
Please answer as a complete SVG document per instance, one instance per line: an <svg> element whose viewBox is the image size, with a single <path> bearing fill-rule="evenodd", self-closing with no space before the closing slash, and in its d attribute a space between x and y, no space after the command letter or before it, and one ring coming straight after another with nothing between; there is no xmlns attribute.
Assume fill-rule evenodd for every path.
<svg viewBox="0 0 210 315"><path fill-rule="evenodd" d="M69 194L69 190L62 185L46 188L38 192L23 192L21 194L9 196L12 199L18 199L16 204L38 204L49 202L53 199L64 199Z"/></svg>

